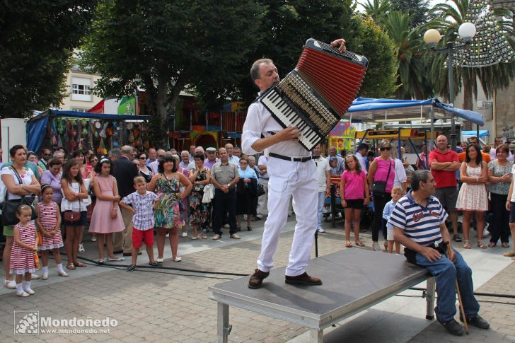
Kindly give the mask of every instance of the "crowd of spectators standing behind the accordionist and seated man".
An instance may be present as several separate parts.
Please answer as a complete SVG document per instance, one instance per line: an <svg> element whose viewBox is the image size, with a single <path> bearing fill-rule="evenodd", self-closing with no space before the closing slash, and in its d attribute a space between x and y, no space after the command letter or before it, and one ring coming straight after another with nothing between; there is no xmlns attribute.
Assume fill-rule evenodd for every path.
<svg viewBox="0 0 515 343"><path fill-rule="evenodd" d="M494 248L499 240L503 248L509 248L510 228L512 234L515 231L513 153L499 139L495 143L485 153L473 137L458 154L449 149L446 136L441 135L436 139L436 149L424 149L415 165L424 169L429 163L436 182L436 198L449 213L452 239L456 242L461 242L458 214L462 214L463 247L467 249L472 247L471 226L477 231L475 245L482 249ZM388 219L410 188L407 175L412 174L413 167L403 159L403 151L397 156L398 149L390 141L380 141L377 151L370 148L362 143L354 154L338 154L331 146L327 157L320 156L320 144L314 149L313 155L320 156L316 159L317 229L324 232L321 219L325 198L329 197L330 178L337 177L341 180L340 194L347 219L345 246L352 247L352 230L354 244L364 246L359 240L361 211L370 207L376 214L371 224L372 248L379 250L378 237L382 232L385 250L393 252L393 226ZM190 146L189 151L180 153L175 149L139 152L123 146L112 149L108 156L97 156L92 151L66 154L63 149L43 149L37 158L24 146L13 146L9 153L11 161L1 169L5 198L32 200L34 194L40 195L38 202L26 202L21 207L16 214L18 224L4 226L4 285L17 288L21 296L33 293L29 274L35 272L35 266L34 259L26 258L27 247L41 252L42 279L49 277L49 252L57 264L57 274L66 277L59 248L66 251L66 269L86 267L77 253L84 251L83 235L88 228L89 239L97 242L98 263L131 256L128 270L132 271L143 242L150 265L163 262L167 237L172 260L180 262L179 236L188 237L188 225L192 240L208 238L209 231L213 233L211 238L218 240L223 227L229 229L230 238L239 239L242 223L251 231L253 222L264 219L267 213L268 157L261 155L256 163L257 156L242 155L241 149L232 144L205 151L202 146ZM31 207L37 214L33 224L27 216ZM490 219L491 233L487 244L483 241L486 218ZM21 247L25 250L21 251ZM400 252L398 243L395 252ZM515 257L515 248L504 255ZM28 261L23 263L24 259ZM20 289L18 276L23 274L25 288ZM32 279L37 277L32 275Z"/></svg>

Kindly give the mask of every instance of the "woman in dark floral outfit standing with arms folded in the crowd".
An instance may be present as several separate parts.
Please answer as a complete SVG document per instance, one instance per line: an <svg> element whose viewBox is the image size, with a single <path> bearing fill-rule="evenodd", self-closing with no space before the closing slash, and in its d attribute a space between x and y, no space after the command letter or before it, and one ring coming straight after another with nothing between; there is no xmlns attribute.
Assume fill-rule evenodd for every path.
<svg viewBox="0 0 515 343"><path fill-rule="evenodd" d="M190 182L193 187L190 193L190 225L193 226L192 239L207 238L209 227L209 204L202 202L204 187L211 181L211 170L204 166L204 154L197 153L193 156L195 168L190 170Z"/></svg>

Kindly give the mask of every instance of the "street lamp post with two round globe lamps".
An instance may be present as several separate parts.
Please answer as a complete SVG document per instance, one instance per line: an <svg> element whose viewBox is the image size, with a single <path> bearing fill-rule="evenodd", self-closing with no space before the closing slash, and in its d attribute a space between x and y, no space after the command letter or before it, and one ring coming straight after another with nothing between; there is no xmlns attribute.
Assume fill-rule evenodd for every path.
<svg viewBox="0 0 515 343"><path fill-rule="evenodd" d="M475 25L473 23L461 24L458 29L458 35L460 35L465 44L454 45L454 42L447 42L446 47L436 49L436 45L441 40L439 31L432 28L424 33L424 42L431 47L431 50L441 54L447 54L447 69L449 71L449 101L452 106L454 106L453 50L463 49L470 45L470 42L472 42L472 38L475 35ZM451 150L456 150L456 124L454 122L453 114L451 115Z"/></svg>

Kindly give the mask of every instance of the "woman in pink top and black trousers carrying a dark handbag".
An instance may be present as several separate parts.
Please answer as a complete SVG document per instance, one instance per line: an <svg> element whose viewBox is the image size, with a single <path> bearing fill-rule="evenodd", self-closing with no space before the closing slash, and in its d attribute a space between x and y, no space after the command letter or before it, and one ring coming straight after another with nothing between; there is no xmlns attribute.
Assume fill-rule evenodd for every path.
<svg viewBox="0 0 515 343"><path fill-rule="evenodd" d="M379 157L374 158L369 167L369 185L371 185L374 200L374 222L372 223L372 248L380 250L378 245L379 229L383 226L383 209L392 199L390 195L395 179L395 162L390 158L390 141L379 142ZM383 232L386 236L386 232ZM386 237L385 237L386 240Z"/></svg>

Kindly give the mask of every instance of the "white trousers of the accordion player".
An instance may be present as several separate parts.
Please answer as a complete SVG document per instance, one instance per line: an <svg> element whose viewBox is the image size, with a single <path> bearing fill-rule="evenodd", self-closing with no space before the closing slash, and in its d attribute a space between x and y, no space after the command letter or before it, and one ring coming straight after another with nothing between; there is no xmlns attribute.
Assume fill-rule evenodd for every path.
<svg viewBox="0 0 515 343"><path fill-rule="evenodd" d="M315 161L291 162L279 158L269 158L268 218L261 243L258 268L270 272L274 265L274 252L277 249L279 233L286 226L289 199L293 196L296 214L294 240L291 244L286 274L290 277L305 272L311 256L311 246L317 223L317 173Z"/></svg>

